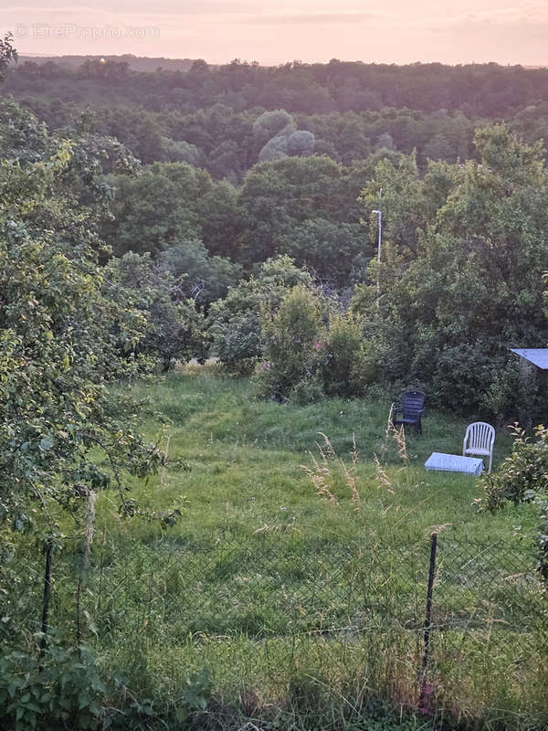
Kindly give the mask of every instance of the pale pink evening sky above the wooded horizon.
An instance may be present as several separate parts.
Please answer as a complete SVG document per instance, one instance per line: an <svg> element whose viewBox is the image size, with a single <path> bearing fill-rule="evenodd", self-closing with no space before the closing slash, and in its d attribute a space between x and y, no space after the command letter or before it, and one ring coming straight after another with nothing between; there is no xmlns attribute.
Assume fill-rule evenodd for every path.
<svg viewBox="0 0 548 731"><path fill-rule="evenodd" d="M548 0L0 0L0 17L22 54L548 65Z"/></svg>

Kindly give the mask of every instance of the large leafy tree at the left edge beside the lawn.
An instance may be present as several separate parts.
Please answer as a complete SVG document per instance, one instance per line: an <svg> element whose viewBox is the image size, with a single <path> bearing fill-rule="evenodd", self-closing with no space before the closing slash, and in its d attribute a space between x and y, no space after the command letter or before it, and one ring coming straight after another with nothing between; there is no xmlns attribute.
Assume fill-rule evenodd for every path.
<svg viewBox="0 0 548 731"><path fill-rule="evenodd" d="M66 144L46 162L0 167L0 519L16 530L51 499L78 513L80 498L111 482L131 510L121 475L157 459L105 387L140 338L142 315L105 279L85 238L75 248L63 222L60 236L34 226L37 209L57 207L69 164Z"/></svg>

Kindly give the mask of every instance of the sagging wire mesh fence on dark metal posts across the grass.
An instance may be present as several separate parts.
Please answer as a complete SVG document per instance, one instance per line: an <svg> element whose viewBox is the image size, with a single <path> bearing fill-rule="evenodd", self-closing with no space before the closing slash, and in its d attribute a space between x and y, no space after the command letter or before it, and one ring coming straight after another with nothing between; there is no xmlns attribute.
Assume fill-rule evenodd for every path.
<svg viewBox="0 0 548 731"><path fill-rule="evenodd" d="M171 652L170 663L225 673L227 694L237 683L276 693L298 669L427 710L520 709L534 696L548 719L535 546L448 532L434 547L428 537L402 546L297 533L202 545L167 533L122 546L103 534L78 606L74 574L57 567L52 615L76 634L80 612L84 641L101 653L147 652L160 672ZM36 585L29 602L38 575Z"/></svg>

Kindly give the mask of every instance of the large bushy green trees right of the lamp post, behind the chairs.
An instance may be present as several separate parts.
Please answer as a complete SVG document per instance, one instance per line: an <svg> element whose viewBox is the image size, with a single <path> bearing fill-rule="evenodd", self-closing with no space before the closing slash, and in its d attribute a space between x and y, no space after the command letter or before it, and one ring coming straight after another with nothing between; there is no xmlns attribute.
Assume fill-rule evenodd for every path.
<svg viewBox="0 0 548 731"><path fill-rule="evenodd" d="M455 173L432 164L421 180L400 175L407 195L387 215L380 269L370 267L380 301L362 286L354 310L371 323L387 380L420 383L447 408L470 413L481 404L486 416L506 418L516 406L501 387L509 348L548 339L541 286L548 217L539 205L548 178L540 146L506 127L479 131L476 144L479 164ZM377 167L383 181L385 168ZM378 182L364 194L368 207ZM418 201L410 211L407 197ZM401 224L414 231L403 238L411 246L398 240Z"/></svg>

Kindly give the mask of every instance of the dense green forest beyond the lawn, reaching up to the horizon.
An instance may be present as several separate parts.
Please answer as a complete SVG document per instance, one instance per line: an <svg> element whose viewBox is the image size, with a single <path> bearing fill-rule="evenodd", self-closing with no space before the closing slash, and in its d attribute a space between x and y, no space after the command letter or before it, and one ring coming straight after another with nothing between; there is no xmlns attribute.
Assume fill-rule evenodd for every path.
<svg viewBox="0 0 548 731"><path fill-rule="evenodd" d="M197 347L197 328L196 355L252 370L260 308L277 307L264 267L278 267L284 282L306 280L324 323L363 329L350 393L406 382L499 420L540 404L509 348L546 340L548 70L26 60L6 64L3 93L5 157L35 164L69 140L83 175L70 195L93 217L99 265L133 294L146 270L160 300L192 311L164 367Z"/></svg>

